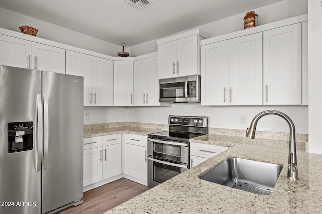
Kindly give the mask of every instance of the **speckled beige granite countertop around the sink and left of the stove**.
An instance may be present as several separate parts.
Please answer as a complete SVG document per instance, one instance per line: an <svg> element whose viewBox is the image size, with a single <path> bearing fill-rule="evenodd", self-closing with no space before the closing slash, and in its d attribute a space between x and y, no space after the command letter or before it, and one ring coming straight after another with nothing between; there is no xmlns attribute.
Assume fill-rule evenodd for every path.
<svg viewBox="0 0 322 214"><path fill-rule="evenodd" d="M164 131L158 127L121 126L84 130L84 137L129 133L147 136ZM107 213L320 213L322 197L319 171L322 155L306 153L305 143L297 143L299 180L286 178L288 142L207 134L191 142L227 146L228 150L162 183ZM239 157L284 167L270 195L257 195L211 183L198 177L230 157ZM286 188L295 190L288 193Z"/></svg>

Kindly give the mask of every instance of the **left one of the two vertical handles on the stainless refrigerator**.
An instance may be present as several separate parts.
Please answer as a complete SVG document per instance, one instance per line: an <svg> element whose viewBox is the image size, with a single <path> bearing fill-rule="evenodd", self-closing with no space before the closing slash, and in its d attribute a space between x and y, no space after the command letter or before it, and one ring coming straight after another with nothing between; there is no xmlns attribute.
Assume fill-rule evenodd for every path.
<svg viewBox="0 0 322 214"><path fill-rule="evenodd" d="M43 121L42 121L42 105L41 94L36 97L36 171L41 171L41 155L42 155L42 137L43 137Z"/></svg>

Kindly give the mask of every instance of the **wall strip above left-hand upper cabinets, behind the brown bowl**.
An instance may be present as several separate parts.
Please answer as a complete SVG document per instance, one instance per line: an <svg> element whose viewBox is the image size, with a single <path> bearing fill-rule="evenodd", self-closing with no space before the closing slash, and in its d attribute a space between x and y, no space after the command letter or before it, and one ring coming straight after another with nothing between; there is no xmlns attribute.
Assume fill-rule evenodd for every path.
<svg viewBox="0 0 322 214"><path fill-rule="evenodd" d="M37 28L39 30L37 37L55 42L60 42L78 48L84 48L110 56L117 56L117 52L121 51L121 47L119 45L115 45L0 7L0 28L20 32L19 27L22 25Z"/></svg>

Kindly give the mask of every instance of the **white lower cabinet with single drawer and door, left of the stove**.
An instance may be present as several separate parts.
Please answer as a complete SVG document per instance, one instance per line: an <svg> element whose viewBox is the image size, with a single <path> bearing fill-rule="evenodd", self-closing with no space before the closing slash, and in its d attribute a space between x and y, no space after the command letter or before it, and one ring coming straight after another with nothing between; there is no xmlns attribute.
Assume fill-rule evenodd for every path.
<svg viewBox="0 0 322 214"><path fill-rule="evenodd" d="M124 177L147 186L147 137L124 134Z"/></svg>

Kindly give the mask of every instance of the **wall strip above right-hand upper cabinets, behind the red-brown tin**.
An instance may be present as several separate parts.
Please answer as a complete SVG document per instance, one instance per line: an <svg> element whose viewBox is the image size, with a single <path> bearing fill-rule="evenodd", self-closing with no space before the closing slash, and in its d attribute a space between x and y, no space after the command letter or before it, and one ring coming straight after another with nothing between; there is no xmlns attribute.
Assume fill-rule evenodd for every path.
<svg viewBox="0 0 322 214"><path fill-rule="evenodd" d="M254 11L258 15L258 25L264 25L290 17L307 14L307 0L284 0L275 4L254 9ZM243 18L245 15L246 12L216 22L201 25L196 28L200 28L204 33L206 33L208 35L207 38L243 30ZM131 56L139 56L155 52L157 51L156 41L159 39L162 38L129 47L127 51L131 54Z"/></svg>

